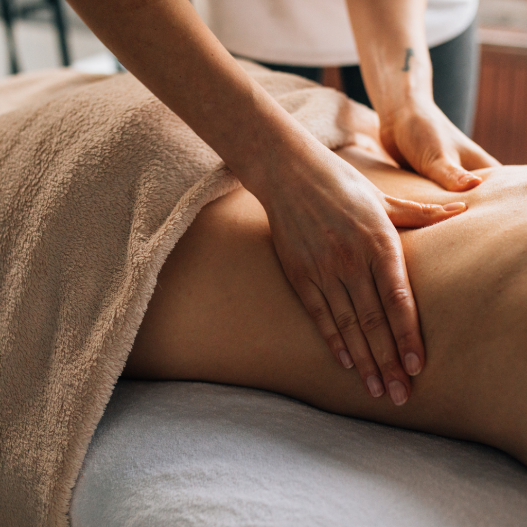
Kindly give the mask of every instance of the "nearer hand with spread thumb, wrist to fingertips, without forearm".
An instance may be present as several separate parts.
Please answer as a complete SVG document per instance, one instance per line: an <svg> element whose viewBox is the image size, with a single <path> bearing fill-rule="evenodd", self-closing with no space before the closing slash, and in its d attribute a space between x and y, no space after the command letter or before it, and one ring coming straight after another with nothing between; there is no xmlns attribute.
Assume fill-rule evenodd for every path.
<svg viewBox="0 0 527 527"><path fill-rule="evenodd" d="M282 267L337 360L356 365L373 397L386 390L404 404L425 354L394 225L423 227L465 206L386 196L314 138L294 149L270 176L287 184L259 192Z"/></svg>

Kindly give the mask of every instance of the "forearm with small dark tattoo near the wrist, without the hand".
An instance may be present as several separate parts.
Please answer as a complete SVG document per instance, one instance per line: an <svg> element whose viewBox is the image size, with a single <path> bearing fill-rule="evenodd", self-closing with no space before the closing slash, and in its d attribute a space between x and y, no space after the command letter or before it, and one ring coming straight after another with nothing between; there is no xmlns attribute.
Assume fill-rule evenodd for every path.
<svg viewBox="0 0 527 527"><path fill-rule="evenodd" d="M381 119L402 105L432 99L425 9L426 0L348 0L360 69Z"/></svg>

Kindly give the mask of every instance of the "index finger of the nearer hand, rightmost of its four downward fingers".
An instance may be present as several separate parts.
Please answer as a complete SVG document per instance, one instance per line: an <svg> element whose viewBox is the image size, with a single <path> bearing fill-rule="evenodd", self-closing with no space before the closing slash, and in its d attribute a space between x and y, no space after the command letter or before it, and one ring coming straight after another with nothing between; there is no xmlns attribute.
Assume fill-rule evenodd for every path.
<svg viewBox="0 0 527 527"><path fill-rule="evenodd" d="M417 306L398 237L392 249L375 261L372 272L401 362L408 375L417 375L424 366L425 352Z"/></svg>

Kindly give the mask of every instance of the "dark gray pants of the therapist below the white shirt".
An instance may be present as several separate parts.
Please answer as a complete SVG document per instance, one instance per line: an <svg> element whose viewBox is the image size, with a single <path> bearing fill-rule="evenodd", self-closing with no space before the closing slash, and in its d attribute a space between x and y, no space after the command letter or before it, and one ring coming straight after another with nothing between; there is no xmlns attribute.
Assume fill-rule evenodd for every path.
<svg viewBox="0 0 527 527"><path fill-rule="evenodd" d="M479 75L476 27L474 21L461 35L430 48L434 100L448 119L467 135L472 132ZM261 64L271 70L296 73L317 82L322 77L319 67ZM347 95L371 108L359 66L343 66L340 71Z"/></svg>

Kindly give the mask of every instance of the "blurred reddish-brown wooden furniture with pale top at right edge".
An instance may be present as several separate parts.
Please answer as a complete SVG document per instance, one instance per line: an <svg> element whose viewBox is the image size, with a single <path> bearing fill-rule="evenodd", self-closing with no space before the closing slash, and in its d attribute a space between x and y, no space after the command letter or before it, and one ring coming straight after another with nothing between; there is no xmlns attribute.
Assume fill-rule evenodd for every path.
<svg viewBox="0 0 527 527"><path fill-rule="evenodd" d="M473 139L504 164L527 164L527 33L480 29Z"/></svg>

